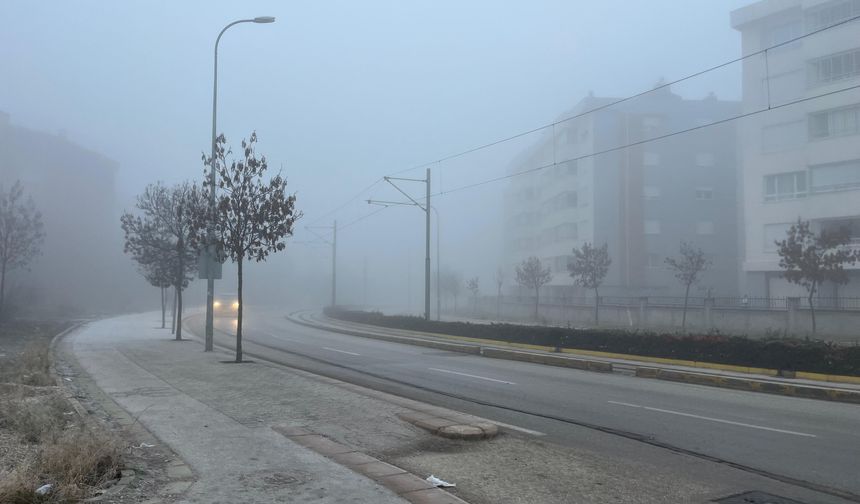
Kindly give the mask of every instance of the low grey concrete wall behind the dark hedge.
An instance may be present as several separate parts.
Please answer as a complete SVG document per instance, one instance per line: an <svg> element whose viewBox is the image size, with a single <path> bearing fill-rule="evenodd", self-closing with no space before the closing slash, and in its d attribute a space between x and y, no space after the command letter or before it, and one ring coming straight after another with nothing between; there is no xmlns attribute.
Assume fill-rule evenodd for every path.
<svg viewBox="0 0 860 504"><path fill-rule="evenodd" d="M462 317L497 319L495 297L463 303L456 315ZM723 334L747 335L750 337L793 336L812 337L812 317L800 299L788 303L788 309L759 308L715 308L691 306L687 309L686 328L692 332L719 331ZM508 298L500 303L499 320L509 322L533 322L534 299ZM860 344L860 310L818 309L816 314L816 338L845 343ZM599 327L678 331L681 329L683 307L601 305ZM542 324L595 327L594 305L541 303L538 321Z"/></svg>

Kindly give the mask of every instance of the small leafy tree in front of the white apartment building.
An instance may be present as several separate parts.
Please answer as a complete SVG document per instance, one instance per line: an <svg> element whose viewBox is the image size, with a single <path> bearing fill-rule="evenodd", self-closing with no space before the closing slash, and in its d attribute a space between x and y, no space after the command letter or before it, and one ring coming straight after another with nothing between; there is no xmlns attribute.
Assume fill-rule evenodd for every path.
<svg viewBox="0 0 860 504"><path fill-rule="evenodd" d="M824 282L841 285L848 283L846 264L860 259L860 251L848 248L849 233L845 229L833 232L821 230L816 235L809 221L797 219L786 231L786 239L776 241L779 267L782 276L793 284L803 286L807 292L812 314L812 334L815 334L815 306L812 299Z"/></svg>

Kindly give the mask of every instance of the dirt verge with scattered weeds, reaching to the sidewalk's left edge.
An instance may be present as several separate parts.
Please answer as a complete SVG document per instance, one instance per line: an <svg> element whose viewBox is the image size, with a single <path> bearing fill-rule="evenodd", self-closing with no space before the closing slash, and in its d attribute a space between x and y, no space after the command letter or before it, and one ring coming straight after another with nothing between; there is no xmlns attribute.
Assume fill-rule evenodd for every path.
<svg viewBox="0 0 860 504"><path fill-rule="evenodd" d="M40 478L33 476L33 471L23 470L40 460L36 467L51 466L44 460L60 459L60 454L68 452L64 446L71 442L82 452L104 449L116 453L116 467L102 468L101 472L107 472L97 478L97 483L87 482L86 478L75 479L81 481L75 486L82 489L75 497L104 494L100 502L170 502L172 499L163 490L170 482L168 464L176 456L153 442L139 426L121 425L109 414L104 398L95 397L96 393L79 383L84 375L63 352L57 353L53 365L63 388L71 393L64 392L56 383L50 371L49 346L56 334L70 326L68 322L55 321L0 324L0 481L6 480L4 484L13 479L19 481L18 486L25 491L15 496L20 499L16 502L73 501L74 498L60 492L44 497L30 494L29 488L35 491L41 484L52 483L48 481L51 477ZM83 407L84 417L68 399L69 395ZM77 458L82 456L78 454ZM57 468L59 472L63 470L65 467ZM125 474L133 471L134 477L119 489L115 487L118 482L115 476L121 470ZM55 484L55 488L59 486ZM7 498L10 497L4 496L3 500Z"/></svg>

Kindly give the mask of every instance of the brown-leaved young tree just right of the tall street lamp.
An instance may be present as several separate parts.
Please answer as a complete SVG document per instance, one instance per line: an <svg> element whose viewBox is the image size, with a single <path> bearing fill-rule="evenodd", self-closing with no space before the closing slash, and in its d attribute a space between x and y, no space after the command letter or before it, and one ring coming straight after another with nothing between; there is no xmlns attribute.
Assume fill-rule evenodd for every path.
<svg viewBox="0 0 860 504"><path fill-rule="evenodd" d="M269 168L265 156L257 156L257 133L242 140L242 159L229 165L225 156L227 143L224 135L216 142L215 165L220 194L217 196L212 219L215 240L222 258L229 257L238 268L239 310L236 322L236 362L242 362L242 268L245 260L265 261L272 252L286 248L285 238L292 236L293 225L301 218L295 209L296 197L287 195L287 180L280 174L265 181ZM211 160L204 155L204 162ZM205 215L205 213L204 213ZM201 228L205 228L201 226Z"/></svg>

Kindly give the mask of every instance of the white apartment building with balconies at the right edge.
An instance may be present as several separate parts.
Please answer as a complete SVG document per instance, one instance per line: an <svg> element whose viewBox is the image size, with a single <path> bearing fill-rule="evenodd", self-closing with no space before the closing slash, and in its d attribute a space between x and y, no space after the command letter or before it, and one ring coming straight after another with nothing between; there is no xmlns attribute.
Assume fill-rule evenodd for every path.
<svg viewBox="0 0 860 504"><path fill-rule="evenodd" d="M860 0L762 0L731 14L751 55L742 101L750 115L738 126L740 281L750 295L803 292L781 277L775 245L798 218L860 243L857 16ZM860 281L822 295L847 293L860 295Z"/></svg>

